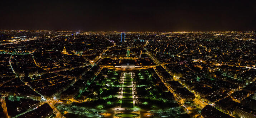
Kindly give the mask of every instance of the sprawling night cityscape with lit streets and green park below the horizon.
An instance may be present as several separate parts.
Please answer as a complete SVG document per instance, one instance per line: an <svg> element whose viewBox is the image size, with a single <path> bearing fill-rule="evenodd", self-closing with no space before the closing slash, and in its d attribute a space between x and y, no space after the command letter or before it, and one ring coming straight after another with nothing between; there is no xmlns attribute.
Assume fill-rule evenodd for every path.
<svg viewBox="0 0 256 118"><path fill-rule="evenodd" d="M256 32L0 30L0 117L255 118Z"/></svg>

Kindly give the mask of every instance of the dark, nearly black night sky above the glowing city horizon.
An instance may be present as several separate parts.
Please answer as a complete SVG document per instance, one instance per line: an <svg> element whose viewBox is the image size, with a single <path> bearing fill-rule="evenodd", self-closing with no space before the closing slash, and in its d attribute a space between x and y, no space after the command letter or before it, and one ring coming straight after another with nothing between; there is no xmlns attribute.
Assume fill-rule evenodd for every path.
<svg viewBox="0 0 256 118"><path fill-rule="evenodd" d="M251 31L256 0L0 2L2 30Z"/></svg>

